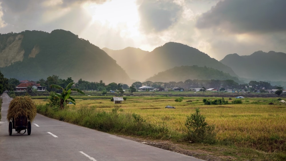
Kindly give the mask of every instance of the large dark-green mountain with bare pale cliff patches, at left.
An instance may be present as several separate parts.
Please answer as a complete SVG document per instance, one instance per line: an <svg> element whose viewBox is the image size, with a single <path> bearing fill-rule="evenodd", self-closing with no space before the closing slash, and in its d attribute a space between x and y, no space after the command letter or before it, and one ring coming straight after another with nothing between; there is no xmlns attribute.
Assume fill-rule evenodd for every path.
<svg viewBox="0 0 286 161"><path fill-rule="evenodd" d="M7 78L46 79L51 75L90 82L132 83L126 72L105 51L57 29L51 33L23 31L0 35L0 71Z"/></svg>

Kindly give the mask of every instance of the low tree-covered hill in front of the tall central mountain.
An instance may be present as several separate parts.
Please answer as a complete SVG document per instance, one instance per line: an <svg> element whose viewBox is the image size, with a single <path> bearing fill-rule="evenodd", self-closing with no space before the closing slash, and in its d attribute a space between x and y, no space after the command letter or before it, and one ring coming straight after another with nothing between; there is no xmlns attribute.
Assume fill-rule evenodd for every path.
<svg viewBox="0 0 286 161"><path fill-rule="evenodd" d="M198 79L198 80L227 80L232 79L235 82L240 82L237 77L231 76L229 73L219 71L217 69L209 67L198 67L193 66L180 66L173 67L163 72L159 72L157 75L150 77L147 81L151 82L184 82L187 79Z"/></svg>

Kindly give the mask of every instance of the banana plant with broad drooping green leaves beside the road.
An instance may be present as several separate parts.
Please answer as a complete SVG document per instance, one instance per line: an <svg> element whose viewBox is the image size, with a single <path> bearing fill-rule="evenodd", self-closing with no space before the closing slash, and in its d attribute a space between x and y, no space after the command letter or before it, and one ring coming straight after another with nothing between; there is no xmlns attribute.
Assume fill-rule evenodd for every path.
<svg viewBox="0 0 286 161"><path fill-rule="evenodd" d="M61 100L59 103L61 109L64 109L65 104L68 102L71 102L74 105L76 104L75 103L76 101L70 96L72 91L76 91L76 92L79 92L80 94L84 94L84 92L82 92L81 90L77 88L72 88L72 85L74 85L74 82L70 82L65 88L59 85L56 85L56 84L51 84L51 88L63 90L63 92L61 92L60 94L55 93L55 96L57 96Z"/></svg>

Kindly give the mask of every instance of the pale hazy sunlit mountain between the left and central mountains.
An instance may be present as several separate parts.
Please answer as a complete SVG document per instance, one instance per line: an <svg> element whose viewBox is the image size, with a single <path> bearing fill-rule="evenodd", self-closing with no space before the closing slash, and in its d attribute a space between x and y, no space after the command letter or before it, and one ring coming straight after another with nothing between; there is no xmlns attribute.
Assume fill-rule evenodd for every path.
<svg viewBox="0 0 286 161"><path fill-rule="evenodd" d="M145 80L145 75L140 75L138 71L144 71L144 68L141 68L143 58L149 53L149 51L144 51L139 48L126 47L121 50L112 50L108 48L102 48L110 57L116 60L116 63L120 65L130 78L135 80Z"/></svg>

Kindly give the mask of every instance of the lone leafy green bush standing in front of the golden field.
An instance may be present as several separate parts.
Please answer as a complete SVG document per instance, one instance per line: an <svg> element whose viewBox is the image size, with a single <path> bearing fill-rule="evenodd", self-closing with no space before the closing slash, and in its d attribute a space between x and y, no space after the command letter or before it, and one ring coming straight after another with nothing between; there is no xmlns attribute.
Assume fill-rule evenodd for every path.
<svg viewBox="0 0 286 161"><path fill-rule="evenodd" d="M208 125L205 117L200 114L199 108L196 112L187 116L185 126L187 127L186 139L191 142L214 144L216 142L215 126Z"/></svg>

